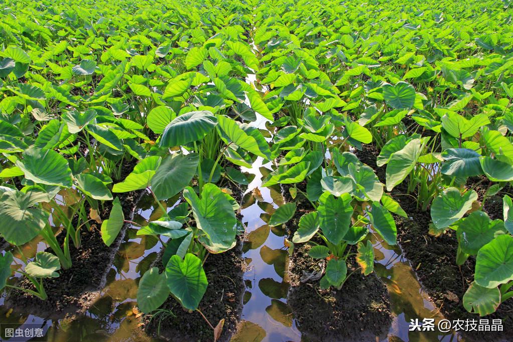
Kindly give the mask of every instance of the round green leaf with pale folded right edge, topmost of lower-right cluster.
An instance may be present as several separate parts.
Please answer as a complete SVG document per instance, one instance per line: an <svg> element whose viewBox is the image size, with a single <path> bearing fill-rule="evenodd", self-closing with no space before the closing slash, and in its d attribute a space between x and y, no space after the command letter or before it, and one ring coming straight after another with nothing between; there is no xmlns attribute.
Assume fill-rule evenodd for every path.
<svg viewBox="0 0 513 342"><path fill-rule="evenodd" d="M476 191L467 191L463 195L457 188L447 188L438 195L431 205L431 219L438 229L449 227L472 208L478 199Z"/></svg>

